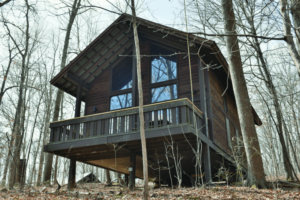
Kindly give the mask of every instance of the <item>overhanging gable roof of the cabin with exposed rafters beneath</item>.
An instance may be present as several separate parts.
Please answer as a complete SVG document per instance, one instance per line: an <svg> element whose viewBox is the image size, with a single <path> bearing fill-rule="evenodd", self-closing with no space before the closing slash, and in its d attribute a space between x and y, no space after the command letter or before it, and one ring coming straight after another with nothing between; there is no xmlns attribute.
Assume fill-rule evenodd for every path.
<svg viewBox="0 0 300 200"><path fill-rule="evenodd" d="M89 85L109 66L118 64L123 58L119 55L129 55L132 52L134 40L129 17L130 15L126 13L118 17L50 83L74 97L76 97L78 85L82 85L82 101L85 102ZM171 27L138 18L138 36L166 44L181 52L187 52L186 34ZM192 34L189 34L188 37L191 53L198 54L197 56L207 58L218 66L222 66L214 71L219 75L222 84L227 85L227 76L229 76L228 91L234 98L231 77L228 75L228 63L217 44L212 40ZM255 123L261 124L253 108L252 111L256 118L254 118Z"/></svg>

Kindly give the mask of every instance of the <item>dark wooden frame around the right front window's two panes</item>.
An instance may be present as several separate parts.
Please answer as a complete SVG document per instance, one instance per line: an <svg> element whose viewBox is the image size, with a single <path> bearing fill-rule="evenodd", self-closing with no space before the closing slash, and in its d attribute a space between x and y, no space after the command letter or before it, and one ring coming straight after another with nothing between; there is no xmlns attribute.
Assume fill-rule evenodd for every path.
<svg viewBox="0 0 300 200"><path fill-rule="evenodd" d="M148 70L148 104L155 104L155 103L159 103L159 102L165 102L165 101L171 101L171 100L175 100L175 99L179 99L179 67L178 67L178 54L176 54L176 73L177 73L177 78L176 79L171 79L171 80L165 80L165 81L161 81L161 82L156 82L156 83L151 83L151 75L152 75L152 64L151 64L151 44L154 44L156 46L162 47L164 49L167 49L169 51L174 51L175 53L178 53L177 50L174 50L172 48L170 48L169 46L163 45L163 44L159 44L156 42L149 42L149 70ZM164 100L164 101L158 101L158 102L151 102L152 99L152 92L151 90L154 88L159 88L159 87L165 87L165 86L169 86L169 85L177 85L177 98L175 99L170 99L170 100Z"/></svg>

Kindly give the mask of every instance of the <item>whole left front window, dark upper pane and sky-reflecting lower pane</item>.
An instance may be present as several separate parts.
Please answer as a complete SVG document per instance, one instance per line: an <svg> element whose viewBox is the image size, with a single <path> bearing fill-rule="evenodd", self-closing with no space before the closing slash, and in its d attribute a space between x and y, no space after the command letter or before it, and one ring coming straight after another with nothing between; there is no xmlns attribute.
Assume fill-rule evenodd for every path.
<svg viewBox="0 0 300 200"><path fill-rule="evenodd" d="M132 57L122 59L112 68L109 110L131 107L132 101Z"/></svg>

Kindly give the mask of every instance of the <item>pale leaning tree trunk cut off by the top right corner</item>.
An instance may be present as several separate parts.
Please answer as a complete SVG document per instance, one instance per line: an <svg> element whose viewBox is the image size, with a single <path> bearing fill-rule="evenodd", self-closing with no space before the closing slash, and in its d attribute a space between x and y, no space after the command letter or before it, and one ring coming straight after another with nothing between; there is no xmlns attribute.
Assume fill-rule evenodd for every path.
<svg viewBox="0 0 300 200"><path fill-rule="evenodd" d="M299 2L297 1L296 4L299 4ZM296 9L295 9L295 11L296 11ZM295 12L295 11L293 12L294 14L299 13L299 11L298 12ZM294 38L293 38L292 32L291 32L291 20L290 20L290 16L288 13L287 0L280 0L280 13L281 13L281 17L282 17L283 31L284 31L284 36L286 37L287 46L290 51L290 55L294 61L294 64L296 65L298 72L300 74L300 55L297 52L297 48L294 43L294 40L293 40ZM295 16L295 17L297 17L297 16ZM297 39L299 39L299 38L297 38Z"/></svg>

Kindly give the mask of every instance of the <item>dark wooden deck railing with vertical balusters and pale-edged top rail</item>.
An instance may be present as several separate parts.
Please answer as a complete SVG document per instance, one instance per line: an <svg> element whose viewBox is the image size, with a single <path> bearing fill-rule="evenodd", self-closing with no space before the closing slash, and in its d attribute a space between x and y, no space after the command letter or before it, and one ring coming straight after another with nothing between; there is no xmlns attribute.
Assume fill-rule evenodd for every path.
<svg viewBox="0 0 300 200"><path fill-rule="evenodd" d="M145 105L143 110L145 131L175 124L197 124L198 129L201 127L202 112L194 105L194 120L193 106L188 99ZM49 143L135 132L140 129L138 107L52 122L50 129Z"/></svg>

